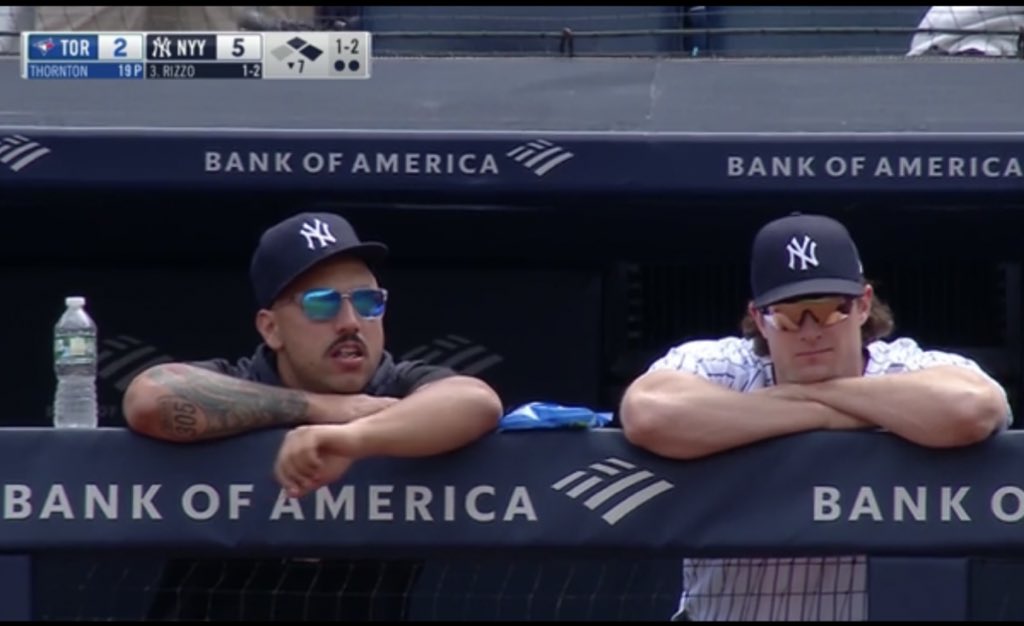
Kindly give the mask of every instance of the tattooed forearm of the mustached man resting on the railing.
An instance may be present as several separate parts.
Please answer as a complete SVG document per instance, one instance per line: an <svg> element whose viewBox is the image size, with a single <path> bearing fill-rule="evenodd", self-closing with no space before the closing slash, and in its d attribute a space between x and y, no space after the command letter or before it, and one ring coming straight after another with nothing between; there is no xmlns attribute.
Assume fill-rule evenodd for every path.
<svg viewBox="0 0 1024 626"><path fill-rule="evenodd" d="M167 441L219 439L309 421L310 398L184 364L144 372L125 393L135 430Z"/></svg>

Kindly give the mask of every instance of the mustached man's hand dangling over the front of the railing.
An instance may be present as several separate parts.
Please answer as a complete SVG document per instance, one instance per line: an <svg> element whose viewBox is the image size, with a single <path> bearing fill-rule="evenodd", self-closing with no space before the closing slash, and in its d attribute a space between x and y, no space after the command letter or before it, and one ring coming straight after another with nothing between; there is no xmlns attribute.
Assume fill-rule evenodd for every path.
<svg viewBox="0 0 1024 626"><path fill-rule="evenodd" d="M315 424L293 428L282 443L273 466L278 483L301 498L341 478L357 458L345 426ZM346 452L348 449L352 452Z"/></svg>

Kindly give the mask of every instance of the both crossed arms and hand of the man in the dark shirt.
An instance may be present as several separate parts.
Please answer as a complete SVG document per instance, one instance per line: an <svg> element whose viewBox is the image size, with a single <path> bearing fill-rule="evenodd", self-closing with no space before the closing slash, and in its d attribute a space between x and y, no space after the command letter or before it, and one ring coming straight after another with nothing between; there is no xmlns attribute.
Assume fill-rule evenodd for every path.
<svg viewBox="0 0 1024 626"><path fill-rule="evenodd" d="M292 497L337 481L365 457L424 457L466 446L492 431L503 409L489 385L469 376L428 382L399 400L309 393L180 363L140 374L123 405L129 427L169 442L298 426L273 467Z"/></svg>

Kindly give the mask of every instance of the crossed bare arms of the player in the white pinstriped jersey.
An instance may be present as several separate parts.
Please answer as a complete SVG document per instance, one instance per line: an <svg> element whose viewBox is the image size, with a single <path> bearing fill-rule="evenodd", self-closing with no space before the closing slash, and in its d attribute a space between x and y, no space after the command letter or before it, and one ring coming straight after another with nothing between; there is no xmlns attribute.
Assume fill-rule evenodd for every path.
<svg viewBox="0 0 1024 626"><path fill-rule="evenodd" d="M982 441L1006 424L1002 389L958 366L742 393L673 370L644 374L620 411L634 445L693 459L816 429L884 428L915 444L952 448Z"/></svg>

